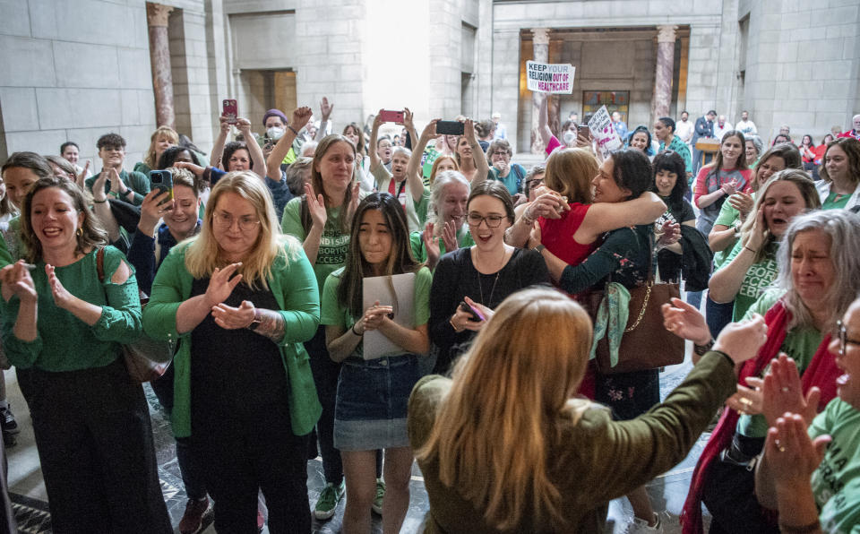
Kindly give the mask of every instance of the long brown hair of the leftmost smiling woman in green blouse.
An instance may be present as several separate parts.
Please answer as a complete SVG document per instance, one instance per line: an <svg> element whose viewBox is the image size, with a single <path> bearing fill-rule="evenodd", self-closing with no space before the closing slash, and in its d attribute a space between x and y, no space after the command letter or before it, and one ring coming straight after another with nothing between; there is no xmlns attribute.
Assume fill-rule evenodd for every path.
<svg viewBox="0 0 860 534"><path fill-rule="evenodd" d="M36 263L42 259L42 242L33 230L32 216L33 197L39 191L56 187L72 198L73 208L83 215L81 233L75 233L77 245L74 247L75 254L89 254L98 246L107 245L107 232L101 227L99 219L92 214L87 205L87 198L80 187L74 182L57 177L39 178L33 184L30 193L21 202L21 240L24 244L24 257L30 263Z"/></svg>

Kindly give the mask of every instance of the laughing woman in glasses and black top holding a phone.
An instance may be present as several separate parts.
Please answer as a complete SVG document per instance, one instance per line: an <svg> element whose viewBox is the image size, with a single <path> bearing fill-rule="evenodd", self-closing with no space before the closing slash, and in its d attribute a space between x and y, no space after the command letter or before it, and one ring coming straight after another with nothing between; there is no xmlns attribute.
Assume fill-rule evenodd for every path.
<svg viewBox="0 0 860 534"><path fill-rule="evenodd" d="M430 340L439 349L434 372L440 374L448 373L453 359L469 349L505 297L549 281L540 254L504 243L504 231L511 227L514 216L511 194L503 184L475 185L466 213L475 245L458 248L439 260L430 291ZM460 306L464 302L467 306Z"/></svg>

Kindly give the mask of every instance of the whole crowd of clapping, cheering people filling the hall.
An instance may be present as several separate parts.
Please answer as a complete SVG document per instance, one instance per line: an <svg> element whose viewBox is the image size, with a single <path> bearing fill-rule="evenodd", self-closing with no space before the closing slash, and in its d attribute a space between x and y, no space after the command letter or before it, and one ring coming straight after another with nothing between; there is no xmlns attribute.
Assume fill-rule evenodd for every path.
<svg viewBox="0 0 860 534"><path fill-rule="evenodd" d="M113 133L98 169L74 142L4 162L0 363L56 532L172 531L126 368L138 339L173 354L151 387L180 532L212 505L219 532L256 532L259 494L271 532L309 532L344 498L344 532L373 513L399 532L416 459L428 532L602 531L620 496L628 531L658 532L646 484L712 421L684 532L702 504L710 532L856 532L860 115L765 148L746 112L632 129L616 112L625 146L605 156L576 117L553 131L543 99L546 161L525 168L498 114L419 134L403 109L390 136L384 110L331 134L332 109L271 109L259 135L220 116L208 155L160 126L133 170ZM662 403L658 367L595 357L606 343L616 365L630 295L655 279L683 285L659 321L694 344Z"/></svg>

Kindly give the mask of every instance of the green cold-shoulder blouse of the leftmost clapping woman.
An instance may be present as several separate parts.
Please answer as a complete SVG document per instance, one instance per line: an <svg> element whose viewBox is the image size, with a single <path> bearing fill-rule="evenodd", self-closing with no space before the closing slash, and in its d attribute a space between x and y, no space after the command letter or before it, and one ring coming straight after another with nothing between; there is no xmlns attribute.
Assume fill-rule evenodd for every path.
<svg viewBox="0 0 860 534"><path fill-rule="evenodd" d="M122 284L111 281L116 269L125 262L125 255L113 246L105 247L105 280L99 281L93 250L80 260L56 267L56 277L75 297L101 307L99 321L90 326L54 303L47 283L45 262L36 263L30 271L39 295L38 335L35 340L22 341L13 328L21 301L0 298L3 317L3 347L9 362L21 368L37 367L44 371L61 372L107 366L120 354L120 343L141 336L141 300L137 280L132 275Z"/></svg>

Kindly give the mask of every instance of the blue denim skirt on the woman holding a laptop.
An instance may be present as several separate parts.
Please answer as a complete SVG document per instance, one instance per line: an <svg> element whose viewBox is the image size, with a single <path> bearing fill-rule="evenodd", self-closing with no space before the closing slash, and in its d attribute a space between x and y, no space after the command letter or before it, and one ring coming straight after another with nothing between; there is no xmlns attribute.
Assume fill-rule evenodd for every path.
<svg viewBox="0 0 860 534"><path fill-rule="evenodd" d="M418 378L418 357L414 354L344 360L334 407L335 448L375 451L408 447L407 404Z"/></svg>

